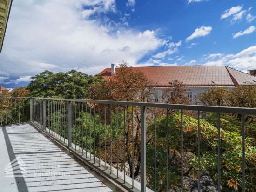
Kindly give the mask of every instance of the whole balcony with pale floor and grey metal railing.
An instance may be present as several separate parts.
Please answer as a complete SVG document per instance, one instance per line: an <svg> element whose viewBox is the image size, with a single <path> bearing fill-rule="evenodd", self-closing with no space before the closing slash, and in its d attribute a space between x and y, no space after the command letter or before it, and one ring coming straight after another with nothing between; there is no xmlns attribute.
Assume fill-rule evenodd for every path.
<svg viewBox="0 0 256 192"><path fill-rule="evenodd" d="M228 185L255 191L245 124L254 108L56 98L0 98L0 104L5 192L224 191L225 134L232 137L225 114L241 119L233 149L238 183ZM207 124L210 118L216 124ZM208 141L216 154L205 153Z"/></svg>

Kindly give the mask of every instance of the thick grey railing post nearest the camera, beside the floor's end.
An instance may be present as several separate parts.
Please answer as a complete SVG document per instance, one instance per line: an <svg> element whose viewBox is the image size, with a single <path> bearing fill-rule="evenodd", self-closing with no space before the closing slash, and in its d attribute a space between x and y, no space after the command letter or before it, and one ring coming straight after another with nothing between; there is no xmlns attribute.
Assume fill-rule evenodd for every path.
<svg viewBox="0 0 256 192"><path fill-rule="evenodd" d="M141 192L146 192L146 107L141 106Z"/></svg>

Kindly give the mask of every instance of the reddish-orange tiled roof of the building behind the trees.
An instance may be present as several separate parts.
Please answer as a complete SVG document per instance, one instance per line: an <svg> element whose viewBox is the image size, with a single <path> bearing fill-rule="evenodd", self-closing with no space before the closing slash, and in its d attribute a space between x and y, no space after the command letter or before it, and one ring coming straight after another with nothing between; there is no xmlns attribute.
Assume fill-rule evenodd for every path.
<svg viewBox="0 0 256 192"><path fill-rule="evenodd" d="M228 66L147 66L132 67L144 72L157 86L171 86L170 81L178 80L184 86L237 86L256 85L255 76L237 71ZM115 74L119 68L115 68ZM110 80L111 68L101 73L104 79ZM213 83L215 81L216 83Z"/></svg>

